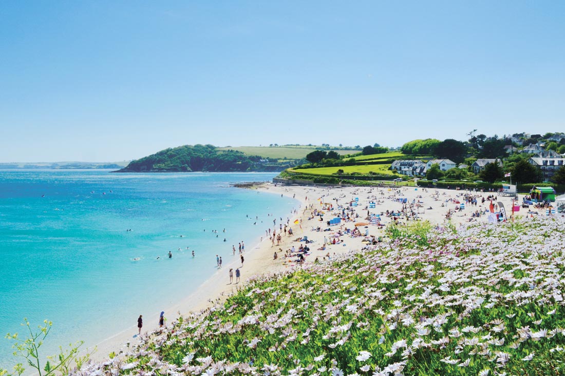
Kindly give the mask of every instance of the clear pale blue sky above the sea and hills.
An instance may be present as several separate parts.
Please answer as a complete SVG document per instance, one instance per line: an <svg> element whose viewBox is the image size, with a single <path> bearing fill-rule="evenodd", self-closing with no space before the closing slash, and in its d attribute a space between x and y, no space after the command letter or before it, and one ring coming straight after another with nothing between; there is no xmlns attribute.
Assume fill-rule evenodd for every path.
<svg viewBox="0 0 565 376"><path fill-rule="evenodd" d="M565 131L565 1L0 2L0 161Z"/></svg>

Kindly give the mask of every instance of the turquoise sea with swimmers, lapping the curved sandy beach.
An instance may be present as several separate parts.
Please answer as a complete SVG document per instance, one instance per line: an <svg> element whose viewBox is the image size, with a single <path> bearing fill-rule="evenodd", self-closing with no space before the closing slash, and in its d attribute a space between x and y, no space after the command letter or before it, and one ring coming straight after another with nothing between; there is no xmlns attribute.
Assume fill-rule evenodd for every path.
<svg viewBox="0 0 565 376"><path fill-rule="evenodd" d="M274 176L1 170L0 368L13 363L3 335L21 333L24 317L54 322L49 352L79 339L93 346L139 314L149 328L151 315L216 272L216 253L229 263L232 244L249 250L273 217L286 220L297 207L286 196L229 187Z"/></svg>

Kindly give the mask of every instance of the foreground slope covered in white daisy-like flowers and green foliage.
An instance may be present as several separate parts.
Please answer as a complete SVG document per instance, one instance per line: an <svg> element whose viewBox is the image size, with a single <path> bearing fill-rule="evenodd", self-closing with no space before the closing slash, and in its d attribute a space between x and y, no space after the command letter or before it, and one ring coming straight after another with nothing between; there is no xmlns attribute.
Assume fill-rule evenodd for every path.
<svg viewBox="0 0 565 376"><path fill-rule="evenodd" d="M82 375L563 374L564 230L551 218L389 230L372 250L251 281Z"/></svg>

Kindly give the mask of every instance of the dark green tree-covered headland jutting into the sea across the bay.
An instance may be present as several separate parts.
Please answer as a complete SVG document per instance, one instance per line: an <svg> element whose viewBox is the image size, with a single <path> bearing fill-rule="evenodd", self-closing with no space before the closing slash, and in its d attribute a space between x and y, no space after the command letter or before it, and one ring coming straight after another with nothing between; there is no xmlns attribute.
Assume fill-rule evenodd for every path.
<svg viewBox="0 0 565 376"><path fill-rule="evenodd" d="M272 164L276 161L270 162L260 156L247 156L240 151L220 151L213 145L184 145L131 161L127 167L116 172L236 172L283 169L282 166Z"/></svg>

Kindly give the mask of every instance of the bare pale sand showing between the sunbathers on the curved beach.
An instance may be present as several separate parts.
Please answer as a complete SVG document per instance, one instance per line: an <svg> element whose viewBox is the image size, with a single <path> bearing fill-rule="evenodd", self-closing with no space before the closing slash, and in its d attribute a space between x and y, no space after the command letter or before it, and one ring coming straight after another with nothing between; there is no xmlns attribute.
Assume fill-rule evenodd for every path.
<svg viewBox="0 0 565 376"><path fill-rule="evenodd" d="M402 203L397 202L395 199L398 198L407 198L407 204L410 205L413 201L420 202L421 207L418 208L418 218L419 220L428 220L433 224L444 224L446 221L445 215L448 209L455 209L459 207L459 204L455 204L453 202L448 202L449 199L460 199L461 195L464 194L464 191L454 191L454 190L442 190L442 189L415 189L414 187L399 187L394 189L388 188L376 188L376 187L345 187L345 188L321 188L321 187L302 187L302 186L275 186L272 183L266 183L258 188L259 191L266 192L266 193L273 193L277 195L287 195L287 196L295 196L295 199L299 200L302 204L299 209L297 209L297 213L290 218L289 227L293 229L293 236L289 237L288 235L285 236L282 233L282 242L279 246L271 246L271 241L267 237L265 237L264 230L268 230L268 228L262 229L263 231L263 241L259 244L255 244L253 247L248 248L246 246L245 256L245 263L244 266L240 269L241 270L241 282L240 284L236 285L231 284L229 285L229 277L228 277L228 270L229 268L234 269L234 278L233 281L235 282L235 268L240 266L240 263L237 261L232 264L225 264L222 269L219 269L218 272L214 274L208 281L203 283L199 286L198 290L187 296L184 300L179 301L178 304L174 305L173 307L168 307L165 312L166 317L169 320L175 319L179 313L186 314L190 311L198 311L199 309L205 308L208 304L210 299L225 299L229 294L236 291L239 286L242 286L245 283L247 278L253 277L257 274L269 273L269 272L278 272L281 270L290 270L292 268L302 268L303 266L307 266L308 264L314 262L316 257L320 261L323 261L324 256L329 252L331 256L334 253L339 254L343 252L347 252L350 250L358 250L365 245L362 243L365 237L355 237L352 238L350 235L343 235L339 237L340 244L329 245L327 246L325 251L318 250L324 242L324 237L327 239L331 239L334 237L334 234L338 230L344 231L346 228L353 229L355 228L355 223L353 221L344 222L342 221L340 225L332 226L331 231L315 231L314 229L318 226L321 229L327 229L326 221L330 220L334 217L333 213L341 211L338 210L338 205L343 205L349 207L349 202L353 201L355 197L359 198L359 206L354 209L354 215L359 215L359 218L356 218L357 222L367 222L365 219L367 216L367 210L370 213L381 213L389 211L399 211L402 210ZM483 196L486 199L486 196L489 193L471 193L476 194L479 196ZM307 199L306 199L307 198ZM336 204L337 199L337 204ZM370 200L378 200L376 202L375 209L367 209L368 203ZM322 206L320 202L323 203L332 203L334 207L333 212L324 212L324 220L319 221L319 217L311 217L312 212L314 209L320 210ZM511 199L507 197L497 196L496 202L502 202L507 210L508 215L511 212ZM496 203L495 202L495 203ZM444 207L442 207L442 203ZM489 200L486 200L484 204L479 202L477 206L467 207L463 211L458 211L451 216L451 222L456 226L461 224L467 223L468 220L471 218L471 214L476 210L481 210L486 208L490 204ZM406 204L405 204L406 205ZM432 207L432 209L427 209ZM524 215L523 212L519 213ZM300 225L295 225L295 220L301 221ZM286 220L286 218L283 218ZM381 223L386 226L390 225L390 222L393 221L391 217L381 216ZM408 222L411 222L410 220ZM486 222L487 217L481 216L479 218L473 218L473 222ZM401 224L405 224L407 221L405 219L401 219L398 222ZM277 218L276 222L276 233L279 233L279 218ZM272 226L272 224L271 224ZM300 228L302 226L302 229ZM369 235L375 235L376 237L383 236L385 234L385 228L379 228L378 226L368 225L367 228L365 226L359 226L359 229L364 234L366 230L368 230ZM271 231L273 227L271 227ZM292 246L298 248L300 244L305 244L304 242L297 242L295 239L298 237L303 237L306 235L308 240L312 240L313 243L308 243L307 246L310 247L310 255L306 257L306 262L304 264L297 264L294 261L289 262L289 259L294 260L295 257L290 257L289 259L285 259L284 254L286 250L289 250ZM259 235L260 236L260 235ZM279 252L279 258L277 260L273 260L273 253L275 251L282 250ZM237 253L237 251L236 251ZM237 258L237 260L239 260ZM173 314L174 313L174 314ZM158 312L155 313L155 317L158 317ZM152 317L152 316L151 316ZM151 327L147 324L144 325L142 334L145 333L146 330L155 330L156 327ZM111 338L106 339L102 343L97 345L97 352L93 355L94 360L102 360L107 357L108 353L116 352L119 353L121 349L125 348L125 344L127 342L136 343L138 341L137 338L134 338L134 334L137 334L137 327L131 326L118 333Z"/></svg>

